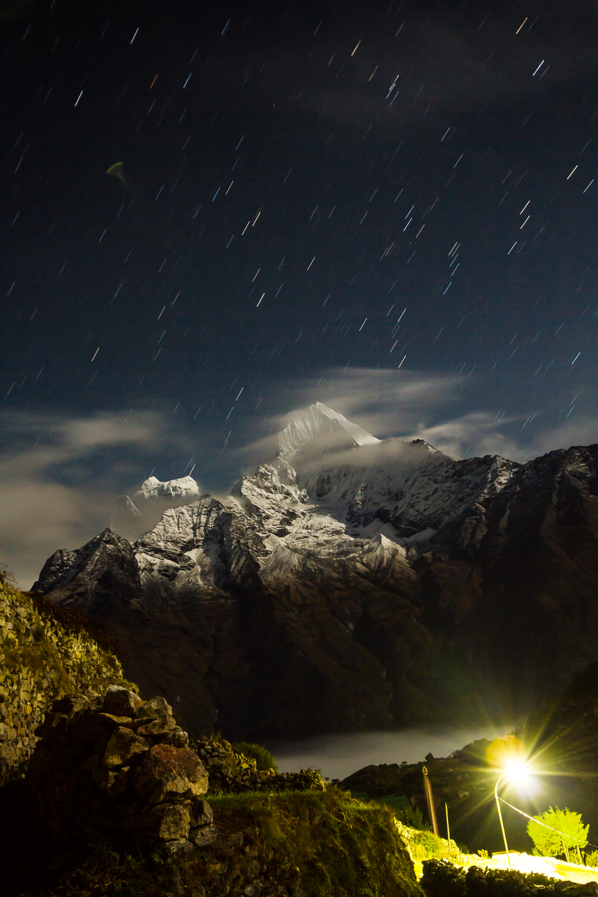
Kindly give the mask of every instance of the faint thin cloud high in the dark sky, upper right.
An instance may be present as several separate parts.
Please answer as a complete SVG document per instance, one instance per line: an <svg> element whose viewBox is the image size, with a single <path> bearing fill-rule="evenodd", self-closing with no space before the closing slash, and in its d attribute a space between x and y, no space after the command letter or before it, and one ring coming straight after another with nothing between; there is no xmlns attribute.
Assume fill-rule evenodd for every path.
<svg viewBox="0 0 598 897"><path fill-rule="evenodd" d="M316 47L312 90L301 91L297 103L319 118L342 119L345 128L359 131L365 121L371 123L380 116L386 121L393 102L394 115L386 122L386 130L395 121L397 132L403 134L409 123L413 138L427 132L428 117L422 118L426 107L433 111L504 109L505 103L529 97L530 90L540 97L554 91L556 84L572 83L589 73L592 56L580 54L577 33L561 29L541 34L535 29L525 40L514 40L514 20L507 16L507 21L501 21L494 14L486 20L468 28L464 22L451 25L446 17L422 9L420 18L411 14L403 25L401 16L379 30L370 24L354 56L351 19L344 27L343 22L336 22L334 40ZM396 49L385 55L380 48L388 47L389 39L391 46L395 41ZM589 50L589 44L586 48ZM304 77L306 50L296 46L283 46L282 50L289 81L294 75L294 82L299 83ZM310 50L311 60L313 46ZM550 51L553 57L559 55L558 68L546 79L532 82L530 58L537 56L540 62L543 56L550 57ZM398 100L394 103L395 91Z"/></svg>

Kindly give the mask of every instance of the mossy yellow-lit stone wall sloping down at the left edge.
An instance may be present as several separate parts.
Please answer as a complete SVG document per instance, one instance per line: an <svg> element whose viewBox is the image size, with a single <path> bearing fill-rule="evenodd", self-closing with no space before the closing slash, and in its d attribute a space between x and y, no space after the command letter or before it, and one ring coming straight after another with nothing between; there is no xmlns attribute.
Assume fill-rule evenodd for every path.
<svg viewBox="0 0 598 897"><path fill-rule="evenodd" d="M0 785L29 760L53 701L110 684L136 691L123 678L117 644L89 625L76 611L0 582Z"/></svg>

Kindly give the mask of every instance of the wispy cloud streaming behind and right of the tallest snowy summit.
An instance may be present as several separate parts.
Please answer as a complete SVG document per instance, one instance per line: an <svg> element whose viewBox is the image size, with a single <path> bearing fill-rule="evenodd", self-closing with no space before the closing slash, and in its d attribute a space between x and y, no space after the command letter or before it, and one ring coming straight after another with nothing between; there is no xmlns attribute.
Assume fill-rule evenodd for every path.
<svg viewBox="0 0 598 897"><path fill-rule="evenodd" d="M591 414L555 421L553 414L504 414L480 397L480 382L418 370L331 369L321 379L277 384L268 420L272 431L238 448L245 472L276 453L277 434L297 410L324 402L359 423L379 439L422 439L453 457L501 455L524 461L571 445L598 440L598 420ZM483 396L483 389L481 390ZM477 407L475 407L477 405ZM472 406L473 409L472 409ZM288 409L288 410L287 410Z"/></svg>

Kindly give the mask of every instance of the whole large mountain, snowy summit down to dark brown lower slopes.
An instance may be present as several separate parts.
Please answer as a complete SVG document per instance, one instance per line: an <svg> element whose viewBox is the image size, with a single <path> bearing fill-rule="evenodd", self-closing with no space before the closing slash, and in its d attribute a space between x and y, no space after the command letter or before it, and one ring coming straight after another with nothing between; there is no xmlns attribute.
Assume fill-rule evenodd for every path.
<svg viewBox="0 0 598 897"><path fill-rule="evenodd" d="M319 403L279 445L34 586L99 617L192 735L512 720L598 659L598 445L455 460Z"/></svg>

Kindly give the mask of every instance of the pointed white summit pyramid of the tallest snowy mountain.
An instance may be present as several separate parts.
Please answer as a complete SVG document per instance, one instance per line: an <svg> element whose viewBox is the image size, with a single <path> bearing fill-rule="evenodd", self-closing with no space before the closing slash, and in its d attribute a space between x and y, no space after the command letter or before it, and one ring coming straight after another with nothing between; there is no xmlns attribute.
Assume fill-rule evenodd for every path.
<svg viewBox="0 0 598 897"><path fill-rule="evenodd" d="M377 440L359 424L333 411L322 402L296 414L278 435L278 455L290 463L302 457L316 457L338 449L375 445Z"/></svg>

